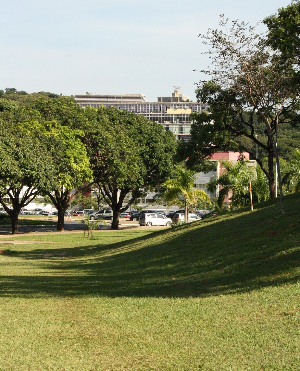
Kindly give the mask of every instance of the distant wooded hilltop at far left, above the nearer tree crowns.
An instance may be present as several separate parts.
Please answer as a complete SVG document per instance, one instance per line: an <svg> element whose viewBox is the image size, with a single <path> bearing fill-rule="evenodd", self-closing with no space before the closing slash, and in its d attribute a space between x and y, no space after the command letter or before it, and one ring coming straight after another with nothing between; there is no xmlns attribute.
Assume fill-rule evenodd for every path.
<svg viewBox="0 0 300 371"><path fill-rule="evenodd" d="M38 93L27 93L24 90L17 91L16 88L5 88L5 91L0 89L0 98L10 99L11 101L17 102L20 106L27 106L31 102L39 98L63 98L64 95L50 93L50 92L38 92Z"/></svg>

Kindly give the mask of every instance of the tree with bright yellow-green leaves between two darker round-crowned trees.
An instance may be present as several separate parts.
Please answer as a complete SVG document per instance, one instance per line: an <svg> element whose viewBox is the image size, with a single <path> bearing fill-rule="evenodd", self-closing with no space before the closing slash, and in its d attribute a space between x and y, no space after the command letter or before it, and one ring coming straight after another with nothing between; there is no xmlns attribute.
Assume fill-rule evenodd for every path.
<svg viewBox="0 0 300 371"><path fill-rule="evenodd" d="M56 187L48 196L58 211L57 230L62 231L65 211L81 191L90 188L93 179L80 130L88 119L85 110L66 97L38 99L30 109L36 121L29 123L29 130L41 135L53 157Z"/></svg>

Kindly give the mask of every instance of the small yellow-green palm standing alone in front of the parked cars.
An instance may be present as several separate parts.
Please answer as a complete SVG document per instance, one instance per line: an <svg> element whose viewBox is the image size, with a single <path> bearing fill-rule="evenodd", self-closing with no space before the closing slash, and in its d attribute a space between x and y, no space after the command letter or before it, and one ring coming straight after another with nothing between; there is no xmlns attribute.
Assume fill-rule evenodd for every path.
<svg viewBox="0 0 300 371"><path fill-rule="evenodd" d="M175 173L176 177L174 179L168 179L163 185L168 190L168 199L173 200L177 197L183 198L184 221L188 222L189 207L196 206L200 199L210 203L210 197L207 193L205 193L205 191L194 189L197 174L195 174L192 170L175 165Z"/></svg>

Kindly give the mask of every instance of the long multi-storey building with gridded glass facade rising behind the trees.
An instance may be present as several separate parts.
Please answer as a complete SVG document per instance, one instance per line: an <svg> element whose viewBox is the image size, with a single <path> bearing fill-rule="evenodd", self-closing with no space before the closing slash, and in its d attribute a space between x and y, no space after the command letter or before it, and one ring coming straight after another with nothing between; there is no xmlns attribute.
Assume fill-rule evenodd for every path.
<svg viewBox="0 0 300 371"><path fill-rule="evenodd" d="M175 91L175 93L180 91ZM174 95L174 93L172 93ZM110 99L113 97L113 99ZM117 98L118 97L118 98ZM125 99L126 101L124 101ZM194 102L143 102L143 94L123 95L75 95L75 100L82 107L98 108L113 106L124 111L125 109L147 119L163 125L165 130L172 131L178 140L187 142L191 135L191 113L208 110L208 104ZM188 100L188 97L184 97ZM131 100L131 101L129 101Z"/></svg>

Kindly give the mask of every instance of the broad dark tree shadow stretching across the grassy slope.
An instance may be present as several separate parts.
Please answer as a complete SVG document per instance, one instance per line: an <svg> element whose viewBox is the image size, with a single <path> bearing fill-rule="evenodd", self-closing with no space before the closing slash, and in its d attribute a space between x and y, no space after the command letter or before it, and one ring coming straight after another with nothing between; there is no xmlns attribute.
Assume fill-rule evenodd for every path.
<svg viewBox="0 0 300 371"><path fill-rule="evenodd" d="M19 253L36 258L30 273L2 276L0 295L186 298L295 283L297 218L293 210L283 219L261 208L109 245L41 250L65 256Z"/></svg>

